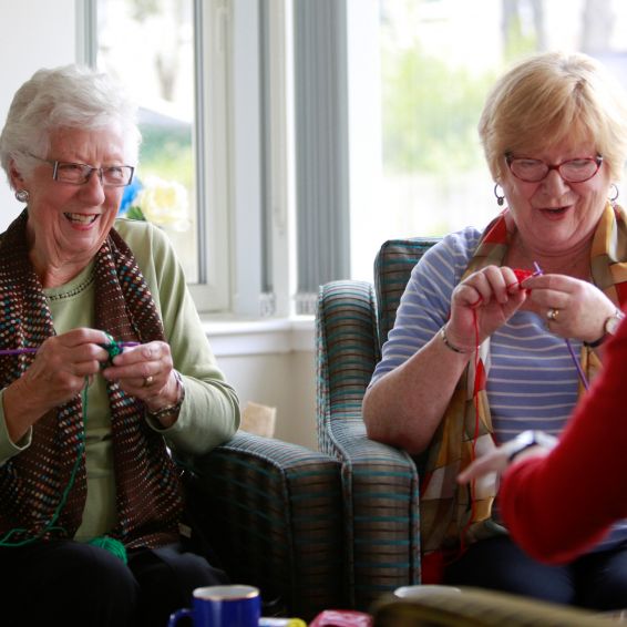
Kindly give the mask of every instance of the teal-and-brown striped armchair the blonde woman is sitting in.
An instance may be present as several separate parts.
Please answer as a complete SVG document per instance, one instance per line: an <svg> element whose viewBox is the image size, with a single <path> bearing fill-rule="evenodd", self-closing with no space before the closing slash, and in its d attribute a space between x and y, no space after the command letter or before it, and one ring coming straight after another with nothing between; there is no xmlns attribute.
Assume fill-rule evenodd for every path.
<svg viewBox="0 0 627 627"><path fill-rule="evenodd" d="M415 463L368 440L361 401L411 269L434 243L387 241L374 261L374 286L338 280L319 291L318 442L342 464L347 594L359 609L421 578Z"/></svg>

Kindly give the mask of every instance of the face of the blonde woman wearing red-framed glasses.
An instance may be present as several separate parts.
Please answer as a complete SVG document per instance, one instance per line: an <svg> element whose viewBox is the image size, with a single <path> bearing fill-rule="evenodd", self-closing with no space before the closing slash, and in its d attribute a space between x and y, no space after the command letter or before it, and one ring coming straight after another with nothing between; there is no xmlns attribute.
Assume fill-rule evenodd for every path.
<svg viewBox="0 0 627 627"><path fill-rule="evenodd" d="M542 160L548 165L567 160L595 157L593 142L562 142L537 152L514 152L514 157ZM577 249L586 241L603 214L610 178L606 164L584 183L567 183L556 169L538 183L516 178L507 166L500 182L518 233L530 249L559 255Z"/></svg>

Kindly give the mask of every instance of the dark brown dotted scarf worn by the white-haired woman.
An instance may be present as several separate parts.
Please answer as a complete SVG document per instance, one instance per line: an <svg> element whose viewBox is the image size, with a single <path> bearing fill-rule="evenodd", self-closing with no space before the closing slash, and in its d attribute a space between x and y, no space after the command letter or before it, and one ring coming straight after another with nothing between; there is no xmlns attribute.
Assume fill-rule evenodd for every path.
<svg viewBox="0 0 627 627"><path fill-rule="evenodd" d="M39 347L54 335L42 286L29 260L24 210L0 240L0 347ZM95 257L95 327L117 341L163 340L152 295L120 235L112 229ZM0 358L0 386L27 370L34 356ZM107 382L117 524L109 534L126 547L155 547L178 537L182 492L163 438L145 422L144 404ZM34 425L31 445L0 467L0 533L11 542L41 534L72 484L55 525L41 536L73 537L86 497L84 424L78 394ZM72 483L76 456L82 459Z"/></svg>

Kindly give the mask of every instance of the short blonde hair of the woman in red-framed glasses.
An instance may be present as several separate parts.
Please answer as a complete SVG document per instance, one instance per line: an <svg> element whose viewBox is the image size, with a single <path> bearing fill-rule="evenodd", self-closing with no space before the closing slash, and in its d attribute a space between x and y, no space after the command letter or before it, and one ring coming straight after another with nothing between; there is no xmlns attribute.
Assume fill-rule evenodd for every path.
<svg viewBox="0 0 627 627"><path fill-rule="evenodd" d="M498 182L507 153L549 148L566 138L592 141L623 176L627 157L627 93L598 61L582 53L546 52L506 72L487 96L479 134Z"/></svg>

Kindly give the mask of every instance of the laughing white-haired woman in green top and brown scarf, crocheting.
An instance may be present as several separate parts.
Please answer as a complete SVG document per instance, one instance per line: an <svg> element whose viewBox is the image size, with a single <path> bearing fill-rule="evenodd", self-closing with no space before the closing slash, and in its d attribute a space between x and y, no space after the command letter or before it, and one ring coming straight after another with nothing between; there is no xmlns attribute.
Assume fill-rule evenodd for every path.
<svg viewBox="0 0 627 627"><path fill-rule="evenodd" d="M181 544L167 449L228 440L238 401L166 236L117 218L137 161L135 112L105 74L40 70L0 135L25 204L0 236L8 624L163 625L193 588L226 580Z"/></svg>

